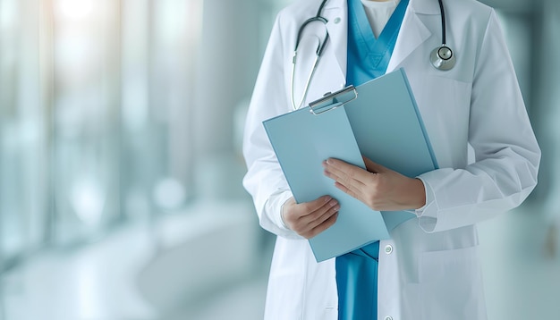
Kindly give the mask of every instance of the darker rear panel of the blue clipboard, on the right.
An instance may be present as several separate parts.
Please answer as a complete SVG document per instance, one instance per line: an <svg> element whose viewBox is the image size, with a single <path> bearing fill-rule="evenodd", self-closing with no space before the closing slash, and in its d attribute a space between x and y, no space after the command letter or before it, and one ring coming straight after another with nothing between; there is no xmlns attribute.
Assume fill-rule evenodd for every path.
<svg viewBox="0 0 560 320"><path fill-rule="evenodd" d="M361 153L407 177L438 168L428 133L403 69L356 88L346 114ZM411 212L382 211L388 230L416 217Z"/></svg>

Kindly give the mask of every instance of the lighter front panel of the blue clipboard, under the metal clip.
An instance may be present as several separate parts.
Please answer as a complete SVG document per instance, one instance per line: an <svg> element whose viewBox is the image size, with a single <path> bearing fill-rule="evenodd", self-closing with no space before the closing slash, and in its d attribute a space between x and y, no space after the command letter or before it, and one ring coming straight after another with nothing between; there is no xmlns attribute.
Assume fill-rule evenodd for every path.
<svg viewBox="0 0 560 320"><path fill-rule="evenodd" d="M330 195L338 200L336 223L310 239L317 261L337 257L363 244L388 239L383 216L335 187L321 163L335 157L365 167L344 105L324 114L310 107L264 122L286 181L298 203Z"/></svg>

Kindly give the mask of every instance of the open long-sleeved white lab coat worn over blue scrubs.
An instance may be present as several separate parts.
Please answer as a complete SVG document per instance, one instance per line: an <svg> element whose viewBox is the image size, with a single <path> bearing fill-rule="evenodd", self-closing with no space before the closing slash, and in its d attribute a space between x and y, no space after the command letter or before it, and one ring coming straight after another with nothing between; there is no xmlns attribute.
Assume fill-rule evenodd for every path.
<svg viewBox="0 0 560 320"><path fill-rule="evenodd" d="M281 206L292 194L261 123L292 110L295 38L319 4L297 0L277 16L246 122L243 184L260 225L277 235L266 319L337 318L335 259L317 263L308 241L282 223ZM427 205L416 211L418 218L380 243L378 319L486 319L476 223L519 206L537 183L540 150L496 13L473 0L444 4L447 42L457 58L454 69L442 72L429 63L430 52L442 41L436 0L410 0L387 69L403 67L407 73L441 169L419 177ZM330 43L306 103L345 82L346 1L328 1L322 15ZM314 28L310 33L317 36L301 40L297 97L324 32L320 24ZM475 155L471 163L468 145Z"/></svg>

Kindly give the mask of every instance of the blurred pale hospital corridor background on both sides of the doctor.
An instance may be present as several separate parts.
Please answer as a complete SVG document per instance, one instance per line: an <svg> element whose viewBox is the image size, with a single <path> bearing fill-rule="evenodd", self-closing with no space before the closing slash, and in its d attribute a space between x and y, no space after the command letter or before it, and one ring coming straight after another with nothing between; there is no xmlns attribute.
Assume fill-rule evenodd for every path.
<svg viewBox="0 0 560 320"><path fill-rule="evenodd" d="M292 1L0 0L0 320L262 319L242 130ZM480 2L542 149L530 198L479 224L488 320L556 320L560 2Z"/></svg>

